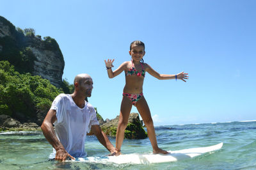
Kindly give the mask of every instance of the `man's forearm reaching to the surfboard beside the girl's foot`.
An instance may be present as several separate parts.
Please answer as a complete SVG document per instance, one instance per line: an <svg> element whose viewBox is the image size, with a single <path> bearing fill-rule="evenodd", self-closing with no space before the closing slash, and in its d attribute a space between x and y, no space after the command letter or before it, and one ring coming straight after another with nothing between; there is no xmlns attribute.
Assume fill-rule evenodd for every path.
<svg viewBox="0 0 256 170"><path fill-rule="evenodd" d="M113 144L109 141L108 136L101 130L99 125L92 125L91 128L93 134L96 135L97 139L99 140L99 142L105 146L105 148L108 149L108 151L110 151L111 153L115 152L115 147L113 146Z"/></svg>

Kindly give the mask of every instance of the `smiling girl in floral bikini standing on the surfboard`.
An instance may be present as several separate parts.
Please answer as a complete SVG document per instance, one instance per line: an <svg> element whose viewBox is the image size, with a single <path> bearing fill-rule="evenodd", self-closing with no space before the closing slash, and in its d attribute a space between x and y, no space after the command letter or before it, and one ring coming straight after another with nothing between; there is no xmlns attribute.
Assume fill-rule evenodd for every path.
<svg viewBox="0 0 256 170"><path fill-rule="evenodd" d="M121 72L125 72L125 86L123 99L121 103L121 111L118 121L118 127L116 131L116 153L114 155L121 154L121 146L124 140L124 130L127 127L129 114L131 112L132 105L136 106L138 112L140 112L141 118L145 126L147 127L148 138L152 144L153 153L168 153L157 146L156 134L154 129L154 124L151 118L150 110L148 108L147 101L142 93L143 81L145 78L145 73L148 72L150 75L156 77L159 80L166 79L180 79L186 82L184 79L188 79L188 73L178 73L177 75L167 75L159 74L153 68L151 68L147 63L143 62L143 56L145 55L145 45L143 42L134 41L130 45L129 54L131 56L131 61L125 61L120 65L114 72L111 67L113 67L113 62L115 59L104 60L106 63L106 68L108 70L108 77L111 79L119 75Z"/></svg>

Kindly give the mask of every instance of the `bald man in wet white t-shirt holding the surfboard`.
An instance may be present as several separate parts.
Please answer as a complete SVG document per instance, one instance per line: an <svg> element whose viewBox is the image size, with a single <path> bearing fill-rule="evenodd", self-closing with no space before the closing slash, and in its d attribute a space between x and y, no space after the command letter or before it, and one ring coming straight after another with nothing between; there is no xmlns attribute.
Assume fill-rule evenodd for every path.
<svg viewBox="0 0 256 170"><path fill-rule="evenodd" d="M115 147L99 127L95 109L84 100L92 95L92 78L85 73L79 74L74 79L74 87L71 95L60 94L54 99L42 123L42 132L54 148L50 158L63 162L67 157L86 157L84 142L90 129L99 142L114 153Z"/></svg>

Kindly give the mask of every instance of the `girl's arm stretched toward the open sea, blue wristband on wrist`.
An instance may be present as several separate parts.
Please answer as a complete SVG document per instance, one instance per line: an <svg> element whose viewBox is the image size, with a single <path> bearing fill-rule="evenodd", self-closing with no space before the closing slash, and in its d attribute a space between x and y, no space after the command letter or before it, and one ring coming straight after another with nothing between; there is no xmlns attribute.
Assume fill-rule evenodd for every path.
<svg viewBox="0 0 256 170"><path fill-rule="evenodd" d="M147 65L146 71L150 73L153 77L156 77L159 80L168 80L168 79L180 79L186 82L184 79L188 79L188 73L178 73L178 74L160 74L157 73L150 65Z"/></svg>

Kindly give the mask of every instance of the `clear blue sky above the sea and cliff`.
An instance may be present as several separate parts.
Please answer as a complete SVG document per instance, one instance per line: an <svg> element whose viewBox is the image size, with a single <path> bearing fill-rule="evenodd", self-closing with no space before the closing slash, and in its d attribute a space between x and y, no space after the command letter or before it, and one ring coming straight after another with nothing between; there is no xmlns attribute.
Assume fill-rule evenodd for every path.
<svg viewBox="0 0 256 170"><path fill-rule="evenodd" d="M187 82L146 73L143 94L155 126L256 120L256 1L0 0L16 27L51 36L65 60L63 79L93 79L89 102L106 119L120 112L129 46L145 43L144 61L159 73L189 73ZM131 112L138 112L132 107Z"/></svg>

